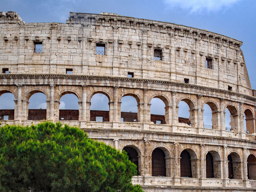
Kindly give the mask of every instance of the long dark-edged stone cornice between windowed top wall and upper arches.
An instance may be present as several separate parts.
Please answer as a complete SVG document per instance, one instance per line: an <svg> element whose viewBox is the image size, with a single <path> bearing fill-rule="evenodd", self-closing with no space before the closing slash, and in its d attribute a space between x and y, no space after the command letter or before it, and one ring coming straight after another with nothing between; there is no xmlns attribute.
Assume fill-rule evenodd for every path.
<svg viewBox="0 0 256 192"><path fill-rule="evenodd" d="M123 81L123 82L135 82L135 83L150 83L150 84L165 84L169 86L179 86L179 87L185 87L185 88L191 88L191 89L200 89L200 90L205 90L205 91L211 91L211 92L219 92L219 93L224 93L224 94L229 94L229 95L234 95L238 96L241 98L249 99L252 101L256 101L256 97L250 96L250 95L245 95L242 93L238 92L231 92L223 89L218 89L218 88L213 88L213 87L206 87L206 86L201 86L201 85L195 85L195 84L184 84L184 83L179 83L179 82L173 82L173 81L161 81L161 80L152 80L152 79L141 79L141 78L128 78L128 77L116 77L116 76L87 76L87 75L59 75L59 74L39 74L39 75L34 75L34 74L1 74L0 79L36 79L36 78L47 78L47 79L52 79L54 84L60 84L59 81L54 81L54 79L76 79L76 80L112 80L112 81ZM1 81L2 85L9 85L9 84L16 84L16 81L12 81L9 84L7 82ZM24 82L24 84L26 84ZM44 84L44 82L42 83ZM80 85L76 84L75 85ZM88 84L90 86L90 84ZM121 85L120 85L121 86ZM149 88L150 89L150 88Z"/></svg>

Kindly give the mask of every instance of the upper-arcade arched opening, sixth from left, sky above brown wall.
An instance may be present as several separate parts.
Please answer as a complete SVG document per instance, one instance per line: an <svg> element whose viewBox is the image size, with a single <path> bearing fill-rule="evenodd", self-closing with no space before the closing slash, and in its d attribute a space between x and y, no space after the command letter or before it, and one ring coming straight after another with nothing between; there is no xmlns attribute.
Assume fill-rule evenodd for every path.
<svg viewBox="0 0 256 192"><path fill-rule="evenodd" d="M150 104L150 121L154 124L166 124L164 101L155 97L150 101Z"/></svg>

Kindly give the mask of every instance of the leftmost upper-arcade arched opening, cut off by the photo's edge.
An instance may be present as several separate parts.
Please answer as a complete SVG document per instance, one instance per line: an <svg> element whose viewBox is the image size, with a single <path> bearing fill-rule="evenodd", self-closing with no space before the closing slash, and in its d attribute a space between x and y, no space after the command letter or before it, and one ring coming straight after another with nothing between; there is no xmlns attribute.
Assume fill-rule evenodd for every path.
<svg viewBox="0 0 256 192"><path fill-rule="evenodd" d="M0 120L14 120L14 95L10 92L0 92Z"/></svg>

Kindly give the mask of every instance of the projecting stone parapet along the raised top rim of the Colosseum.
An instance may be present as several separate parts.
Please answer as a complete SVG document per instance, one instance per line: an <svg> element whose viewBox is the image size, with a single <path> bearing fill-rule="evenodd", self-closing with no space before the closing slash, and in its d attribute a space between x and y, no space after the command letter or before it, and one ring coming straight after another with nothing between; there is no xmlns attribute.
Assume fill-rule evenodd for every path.
<svg viewBox="0 0 256 192"><path fill-rule="evenodd" d="M144 26L144 30L148 29L148 25L153 26L162 26L163 30L166 30L166 28L170 28L170 31L176 30L183 30L188 31L189 33L197 33L202 34L206 36L214 36L219 39L226 40L228 42L233 42L234 44L239 44L241 46L243 44L242 41L236 40L234 38L224 36L218 33L214 33L205 29L199 29L194 27L188 27L185 25L175 24L175 23L169 23L164 21L156 21L156 20L148 20L148 19L141 19L141 18L134 18L130 16L123 16L118 15L116 13L107 13L107 12L101 12L100 14L97 13L81 13L81 12L70 12L68 20L66 20L67 24L85 24L88 21L88 18L94 18L95 21L98 21L100 19L105 19L106 22L109 22L111 20L112 24L117 24L117 21L125 21L126 25L130 23L142 23ZM120 24L119 24L120 25ZM121 27L121 26L120 26ZM166 30L167 31L167 30Z"/></svg>

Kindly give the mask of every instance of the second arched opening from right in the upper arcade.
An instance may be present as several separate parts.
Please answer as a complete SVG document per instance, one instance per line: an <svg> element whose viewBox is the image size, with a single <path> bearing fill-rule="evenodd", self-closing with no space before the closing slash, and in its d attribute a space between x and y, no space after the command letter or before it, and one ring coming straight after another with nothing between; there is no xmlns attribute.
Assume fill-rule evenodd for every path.
<svg viewBox="0 0 256 192"><path fill-rule="evenodd" d="M227 131L239 132L237 110L232 105L228 105L225 109L225 123Z"/></svg>

